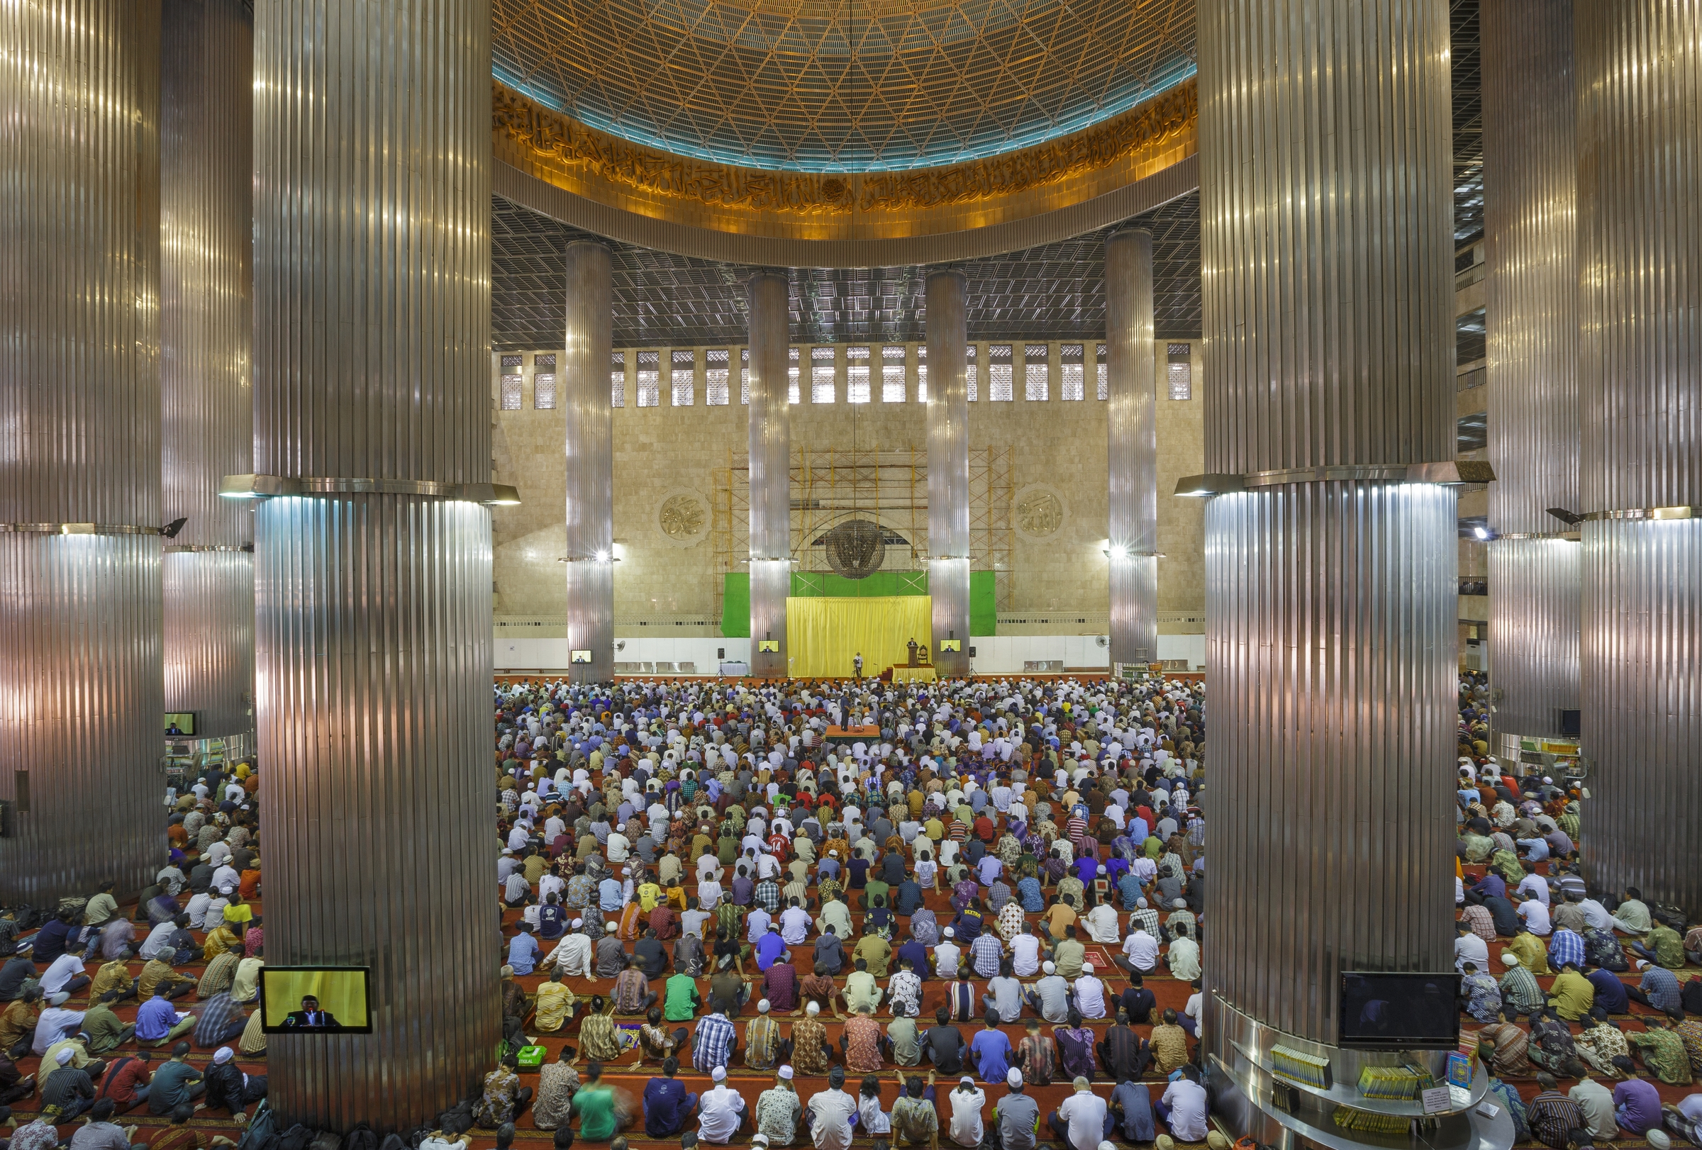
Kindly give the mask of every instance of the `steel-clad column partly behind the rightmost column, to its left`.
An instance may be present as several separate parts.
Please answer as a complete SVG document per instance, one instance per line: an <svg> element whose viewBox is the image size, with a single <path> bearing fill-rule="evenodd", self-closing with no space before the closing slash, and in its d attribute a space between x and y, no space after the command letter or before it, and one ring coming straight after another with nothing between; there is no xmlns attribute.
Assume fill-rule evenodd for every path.
<svg viewBox="0 0 1702 1150"><path fill-rule="evenodd" d="M1482 9L1494 752L1578 709L1578 131L1571 0Z"/></svg>

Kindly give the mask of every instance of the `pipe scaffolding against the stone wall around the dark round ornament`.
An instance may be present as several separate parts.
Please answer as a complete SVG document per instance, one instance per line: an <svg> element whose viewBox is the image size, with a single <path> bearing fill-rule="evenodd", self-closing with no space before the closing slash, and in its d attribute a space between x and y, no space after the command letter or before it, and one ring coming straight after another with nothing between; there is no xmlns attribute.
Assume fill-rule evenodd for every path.
<svg viewBox="0 0 1702 1150"><path fill-rule="evenodd" d="M725 575L749 570L751 458L728 449L713 476L715 616ZM994 597L1009 607L1014 544L1011 500L1016 493L1011 447L980 447L968 461L970 570L994 573ZM928 453L914 446L791 449L791 570L825 573L822 536L848 519L871 519L887 538L887 570L921 570L928 555Z"/></svg>

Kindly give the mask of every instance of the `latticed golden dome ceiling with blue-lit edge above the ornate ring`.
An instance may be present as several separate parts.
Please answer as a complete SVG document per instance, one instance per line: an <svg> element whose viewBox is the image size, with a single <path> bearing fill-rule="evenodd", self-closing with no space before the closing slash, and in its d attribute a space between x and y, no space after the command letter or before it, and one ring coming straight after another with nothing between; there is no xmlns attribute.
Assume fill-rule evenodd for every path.
<svg viewBox="0 0 1702 1150"><path fill-rule="evenodd" d="M1193 75L1193 0L495 0L494 71L633 143L868 172L1026 148Z"/></svg>

